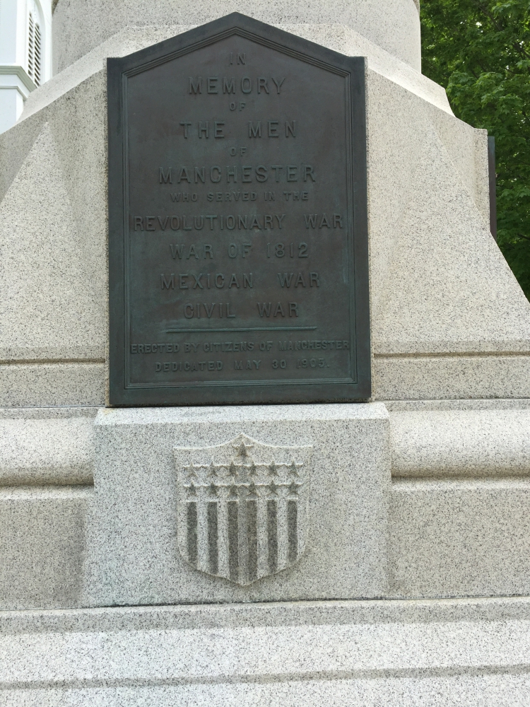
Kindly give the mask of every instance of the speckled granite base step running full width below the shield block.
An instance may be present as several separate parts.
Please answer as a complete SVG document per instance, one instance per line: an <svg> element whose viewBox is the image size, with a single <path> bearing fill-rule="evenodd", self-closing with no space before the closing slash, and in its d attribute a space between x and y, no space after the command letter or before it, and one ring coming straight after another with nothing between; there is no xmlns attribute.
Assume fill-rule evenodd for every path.
<svg viewBox="0 0 530 707"><path fill-rule="evenodd" d="M528 600L0 615L9 707L524 707Z"/></svg>

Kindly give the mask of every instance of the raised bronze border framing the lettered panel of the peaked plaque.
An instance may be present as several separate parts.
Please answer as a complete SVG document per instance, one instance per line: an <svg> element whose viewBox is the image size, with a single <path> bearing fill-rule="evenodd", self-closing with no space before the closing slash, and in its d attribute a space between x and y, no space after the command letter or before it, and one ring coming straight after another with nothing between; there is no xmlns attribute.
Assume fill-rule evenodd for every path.
<svg viewBox="0 0 530 707"><path fill-rule="evenodd" d="M205 381L167 385L127 384L129 346L129 227L127 81L142 71L225 37L238 35L345 78L348 146L348 233L351 311L351 378L267 381ZM241 13L171 37L120 59L107 59L108 209L109 209L109 390L111 407L165 405L358 402L371 395L370 292L367 224L365 59L347 57ZM355 238L352 235L355 234Z"/></svg>

